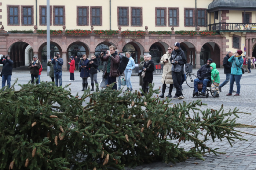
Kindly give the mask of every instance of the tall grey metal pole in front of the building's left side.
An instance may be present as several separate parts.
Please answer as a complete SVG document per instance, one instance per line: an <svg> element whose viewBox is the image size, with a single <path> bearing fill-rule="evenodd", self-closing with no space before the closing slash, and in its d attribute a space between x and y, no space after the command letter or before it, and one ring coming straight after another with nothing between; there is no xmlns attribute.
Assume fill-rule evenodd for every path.
<svg viewBox="0 0 256 170"><path fill-rule="evenodd" d="M47 0L46 3L46 25L47 25L47 35L46 35L46 44L47 44L47 62L50 60L50 0ZM47 67L47 76L50 75L50 67Z"/></svg>

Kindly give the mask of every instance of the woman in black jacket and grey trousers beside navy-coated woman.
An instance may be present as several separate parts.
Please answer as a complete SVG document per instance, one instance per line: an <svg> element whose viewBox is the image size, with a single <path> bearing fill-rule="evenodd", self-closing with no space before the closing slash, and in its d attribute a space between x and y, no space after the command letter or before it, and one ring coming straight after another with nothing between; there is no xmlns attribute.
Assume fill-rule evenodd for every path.
<svg viewBox="0 0 256 170"><path fill-rule="evenodd" d="M97 68L98 67L99 67L98 60L96 59L95 55L92 55L91 60L89 61L89 69L90 69L89 75L91 78L91 85L92 85L91 91L94 91L93 80L94 80L95 84L98 84L98 81L97 81L97 73L98 73Z"/></svg>

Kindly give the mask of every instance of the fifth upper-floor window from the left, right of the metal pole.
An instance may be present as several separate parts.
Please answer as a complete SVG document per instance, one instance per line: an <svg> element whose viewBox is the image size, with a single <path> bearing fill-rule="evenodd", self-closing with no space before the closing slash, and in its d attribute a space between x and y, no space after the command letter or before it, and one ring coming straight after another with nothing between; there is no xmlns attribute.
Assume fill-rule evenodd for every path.
<svg viewBox="0 0 256 170"><path fill-rule="evenodd" d="M88 7L77 7L77 25L88 26L89 8Z"/></svg>

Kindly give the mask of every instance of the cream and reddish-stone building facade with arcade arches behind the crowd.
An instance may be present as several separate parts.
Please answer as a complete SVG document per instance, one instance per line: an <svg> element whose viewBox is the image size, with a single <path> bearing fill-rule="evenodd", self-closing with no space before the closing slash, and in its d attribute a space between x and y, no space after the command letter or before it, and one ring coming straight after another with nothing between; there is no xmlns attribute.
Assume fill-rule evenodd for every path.
<svg viewBox="0 0 256 170"><path fill-rule="evenodd" d="M246 57L256 54L256 8L253 8L256 3L254 0L241 2L244 3L160 0L155 6L154 1L145 0L130 0L129 3L76 0L72 4L67 0L50 1L50 29L57 30L57 35L50 35L50 54L53 57L60 52L67 63L70 56L95 54L99 57L100 52L114 45L121 53L131 52L135 63L139 63L144 54L151 54L154 62L159 63L168 46L180 42L187 62L195 68L200 68L208 58L222 67L229 50L245 48ZM9 54L14 67L27 65L37 55L46 68L46 34L41 31L46 30L46 16L45 0L0 0L0 53ZM70 30L73 34L67 34ZM81 30L90 33L76 35L75 31ZM110 31L105 30L116 30L116 33L108 35ZM182 30L185 30L184 35L175 33ZM217 34L200 33L211 30ZM137 31L137 34L128 34L129 31ZM157 31L163 34L156 34ZM191 36L188 31L195 31L195 35ZM68 64L63 65L63 69L67 68Z"/></svg>

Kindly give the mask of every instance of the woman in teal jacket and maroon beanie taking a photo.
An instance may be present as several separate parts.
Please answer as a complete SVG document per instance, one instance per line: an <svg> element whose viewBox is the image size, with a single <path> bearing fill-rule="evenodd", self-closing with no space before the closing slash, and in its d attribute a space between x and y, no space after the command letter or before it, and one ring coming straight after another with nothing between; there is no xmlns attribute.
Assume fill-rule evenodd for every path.
<svg viewBox="0 0 256 170"><path fill-rule="evenodd" d="M234 96L239 96L240 95L240 80L242 77L242 64L244 62L241 54L242 54L242 50L237 50L235 52L234 56L231 56L228 61L230 63L232 63L232 67L231 67L231 73L230 73L230 85L229 85L229 92L228 94L226 94L226 96L231 96L232 95L232 91L233 91L233 86L234 86L234 82L235 84L237 84L237 93Z"/></svg>

